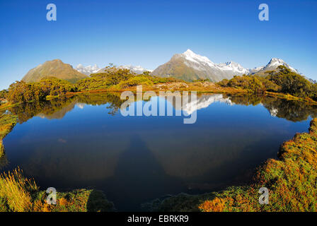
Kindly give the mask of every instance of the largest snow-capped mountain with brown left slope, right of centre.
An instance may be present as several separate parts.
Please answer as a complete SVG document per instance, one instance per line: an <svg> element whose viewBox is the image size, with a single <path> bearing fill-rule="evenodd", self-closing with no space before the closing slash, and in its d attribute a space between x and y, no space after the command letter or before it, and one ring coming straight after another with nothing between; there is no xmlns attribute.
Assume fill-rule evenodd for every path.
<svg viewBox="0 0 317 226"><path fill-rule="evenodd" d="M249 73L248 69L236 62L229 61L215 64L207 57L202 57L188 49L183 54L175 54L166 64L159 66L153 71L154 76L181 78L185 81L208 78L218 82L224 78L230 79L235 75L240 76Z"/></svg>

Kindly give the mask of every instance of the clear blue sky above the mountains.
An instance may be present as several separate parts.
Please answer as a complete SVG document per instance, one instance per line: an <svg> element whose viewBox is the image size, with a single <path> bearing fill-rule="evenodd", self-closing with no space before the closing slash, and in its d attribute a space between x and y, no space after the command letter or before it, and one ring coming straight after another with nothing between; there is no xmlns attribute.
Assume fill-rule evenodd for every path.
<svg viewBox="0 0 317 226"><path fill-rule="evenodd" d="M57 21L46 20L50 3ZM51 59L155 69L186 49L246 68L278 57L317 79L316 13L316 0L0 0L0 89Z"/></svg>

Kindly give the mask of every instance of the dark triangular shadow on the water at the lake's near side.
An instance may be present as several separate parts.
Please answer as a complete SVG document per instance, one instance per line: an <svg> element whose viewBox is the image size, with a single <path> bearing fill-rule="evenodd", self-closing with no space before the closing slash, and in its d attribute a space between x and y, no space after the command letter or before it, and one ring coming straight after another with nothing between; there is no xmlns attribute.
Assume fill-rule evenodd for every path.
<svg viewBox="0 0 317 226"><path fill-rule="evenodd" d="M132 210L153 197L178 193L185 184L182 179L166 174L146 143L134 134L127 149L118 156L113 177L99 186L115 203L123 203L121 210Z"/></svg>

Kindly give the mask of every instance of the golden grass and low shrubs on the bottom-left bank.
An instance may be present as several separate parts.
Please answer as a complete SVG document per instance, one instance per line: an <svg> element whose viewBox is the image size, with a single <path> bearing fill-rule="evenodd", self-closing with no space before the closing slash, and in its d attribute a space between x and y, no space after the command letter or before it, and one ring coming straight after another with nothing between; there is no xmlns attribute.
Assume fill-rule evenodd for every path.
<svg viewBox="0 0 317 226"><path fill-rule="evenodd" d="M33 179L23 176L21 169L0 175L0 212L100 212L113 211L101 191L78 189L57 192L57 204L49 205L47 194Z"/></svg>

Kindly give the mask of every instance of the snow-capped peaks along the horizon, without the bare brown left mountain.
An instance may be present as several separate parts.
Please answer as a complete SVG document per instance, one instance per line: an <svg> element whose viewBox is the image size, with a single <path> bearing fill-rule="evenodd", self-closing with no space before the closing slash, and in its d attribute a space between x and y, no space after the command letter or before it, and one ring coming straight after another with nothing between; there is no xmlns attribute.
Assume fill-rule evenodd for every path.
<svg viewBox="0 0 317 226"><path fill-rule="evenodd" d="M215 64L207 57L195 54L195 52L192 52L190 49L182 54L174 54L170 61L166 64L162 64L154 71L144 69L142 66L133 65L124 65L119 66L118 68L130 69L137 74L149 71L153 76L180 78L185 81L195 81L197 79L208 78L212 82L218 82L224 78L231 79L234 76L241 76L243 74L250 75L257 73L259 76L265 76L265 71L274 71L280 65L286 66L288 69L299 73L308 81L311 81L311 83L316 83L316 81L307 78L298 70L289 66L289 64L282 59L272 58L265 66L255 67L254 69L245 69L243 66L234 61ZM103 73L106 68L100 69L96 64L94 66L83 66L82 64L79 64L75 69L76 71L89 76L91 73Z"/></svg>

